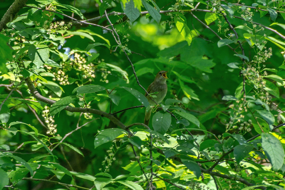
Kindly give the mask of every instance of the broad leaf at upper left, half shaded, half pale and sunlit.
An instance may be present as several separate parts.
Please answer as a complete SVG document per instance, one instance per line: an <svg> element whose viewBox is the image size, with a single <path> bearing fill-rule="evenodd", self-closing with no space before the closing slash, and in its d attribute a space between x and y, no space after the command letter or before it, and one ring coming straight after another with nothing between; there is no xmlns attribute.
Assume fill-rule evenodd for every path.
<svg viewBox="0 0 285 190"><path fill-rule="evenodd" d="M40 68L40 66L42 66L45 62L48 61L50 49L47 45L32 44L29 46L28 54L33 64L35 64L37 68Z"/></svg>

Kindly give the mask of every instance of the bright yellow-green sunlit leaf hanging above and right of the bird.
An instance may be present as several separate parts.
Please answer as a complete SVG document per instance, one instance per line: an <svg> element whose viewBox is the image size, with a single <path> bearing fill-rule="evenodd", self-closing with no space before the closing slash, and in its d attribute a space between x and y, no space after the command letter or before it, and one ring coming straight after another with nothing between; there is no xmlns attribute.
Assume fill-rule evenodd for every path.
<svg viewBox="0 0 285 190"><path fill-rule="evenodd" d="M192 35L190 29L187 26L186 18L184 17L184 15L182 15L182 13L178 13L178 16L174 17L174 22L176 28L178 29L180 34L184 37L184 39L187 41L188 46L190 46L192 42Z"/></svg>

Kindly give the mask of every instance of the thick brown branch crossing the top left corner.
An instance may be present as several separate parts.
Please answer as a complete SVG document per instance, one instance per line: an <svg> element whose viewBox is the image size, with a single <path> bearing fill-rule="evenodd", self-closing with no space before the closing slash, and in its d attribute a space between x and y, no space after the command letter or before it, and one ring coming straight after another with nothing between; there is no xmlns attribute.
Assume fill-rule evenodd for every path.
<svg viewBox="0 0 285 190"><path fill-rule="evenodd" d="M28 0L15 0L14 3L6 11L0 21L0 31L6 28L6 24L13 21L17 13L26 5Z"/></svg>

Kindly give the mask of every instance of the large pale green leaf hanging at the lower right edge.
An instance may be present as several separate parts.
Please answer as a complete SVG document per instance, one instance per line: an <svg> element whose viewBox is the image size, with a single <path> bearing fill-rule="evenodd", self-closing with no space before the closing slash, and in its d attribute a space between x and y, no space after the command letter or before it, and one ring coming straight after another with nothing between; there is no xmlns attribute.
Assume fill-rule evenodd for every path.
<svg viewBox="0 0 285 190"><path fill-rule="evenodd" d="M262 148L272 164L273 171L278 171L284 162L284 149L281 142L270 133L262 133Z"/></svg>

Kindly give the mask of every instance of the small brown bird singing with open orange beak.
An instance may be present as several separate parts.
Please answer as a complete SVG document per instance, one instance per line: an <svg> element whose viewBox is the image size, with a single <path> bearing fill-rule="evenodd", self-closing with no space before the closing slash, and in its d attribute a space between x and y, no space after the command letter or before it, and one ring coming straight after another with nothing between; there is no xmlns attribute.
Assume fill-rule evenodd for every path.
<svg viewBox="0 0 285 190"><path fill-rule="evenodd" d="M148 94L158 92L157 94L155 94L156 97L150 97L147 93L145 93L144 96L146 96L146 98L148 99L150 106L159 104L165 98L167 93L167 84L166 84L166 79L168 79L168 77L166 76L167 72L168 71L159 71L156 74L154 81L148 86L146 90ZM146 125L149 124L151 112L152 112L152 107L148 111L145 111L144 124Z"/></svg>

